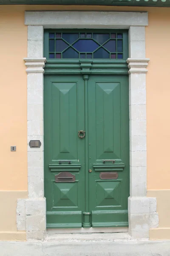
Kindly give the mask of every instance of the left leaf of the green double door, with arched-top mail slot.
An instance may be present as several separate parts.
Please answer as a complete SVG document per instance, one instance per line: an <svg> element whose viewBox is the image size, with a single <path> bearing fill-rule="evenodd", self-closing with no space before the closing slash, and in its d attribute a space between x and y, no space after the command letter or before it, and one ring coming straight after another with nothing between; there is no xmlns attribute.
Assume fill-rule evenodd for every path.
<svg viewBox="0 0 170 256"><path fill-rule="evenodd" d="M84 83L81 76L45 76L44 154L47 227L82 227L85 197ZM63 162L63 161L71 161ZM56 175L62 172L60 182ZM75 175L74 182L66 176ZM65 180L64 180L65 179ZM58 179L59 180L59 179ZM63 182L64 180L64 182Z"/></svg>

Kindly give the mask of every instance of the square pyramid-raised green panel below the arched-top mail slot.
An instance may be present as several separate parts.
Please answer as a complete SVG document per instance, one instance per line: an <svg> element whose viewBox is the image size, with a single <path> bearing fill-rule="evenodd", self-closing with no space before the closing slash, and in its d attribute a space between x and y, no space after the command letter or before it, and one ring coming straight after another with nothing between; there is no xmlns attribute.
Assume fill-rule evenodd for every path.
<svg viewBox="0 0 170 256"><path fill-rule="evenodd" d="M77 182L53 183L53 207L78 207Z"/></svg>

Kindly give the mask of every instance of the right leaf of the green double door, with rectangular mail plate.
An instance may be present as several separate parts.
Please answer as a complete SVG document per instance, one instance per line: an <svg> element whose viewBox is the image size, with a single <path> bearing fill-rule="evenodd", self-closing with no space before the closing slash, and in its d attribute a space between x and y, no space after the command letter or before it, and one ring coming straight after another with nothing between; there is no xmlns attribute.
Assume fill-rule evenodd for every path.
<svg viewBox="0 0 170 256"><path fill-rule="evenodd" d="M90 76L88 142L89 168L92 170L89 174L92 227L128 225L128 105L127 76ZM112 163L113 160L115 163ZM109 175L117 172L118 178L101 180L101 172L106 176L108 172Z"/></svg>

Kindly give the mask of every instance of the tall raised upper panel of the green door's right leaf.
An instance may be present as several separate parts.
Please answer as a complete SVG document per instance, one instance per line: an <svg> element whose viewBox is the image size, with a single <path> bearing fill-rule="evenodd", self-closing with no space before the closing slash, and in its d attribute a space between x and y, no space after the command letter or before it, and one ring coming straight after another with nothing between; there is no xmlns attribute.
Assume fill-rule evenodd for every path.
<svg viewBox="0 0 170 256"><path fill-rule="evenodd" d="M108 77L106 82L100 81L99 77L96 78L99 82L92 79L89 86L96 83L96 161L120 158L120 84L109 82Z"/></svg>

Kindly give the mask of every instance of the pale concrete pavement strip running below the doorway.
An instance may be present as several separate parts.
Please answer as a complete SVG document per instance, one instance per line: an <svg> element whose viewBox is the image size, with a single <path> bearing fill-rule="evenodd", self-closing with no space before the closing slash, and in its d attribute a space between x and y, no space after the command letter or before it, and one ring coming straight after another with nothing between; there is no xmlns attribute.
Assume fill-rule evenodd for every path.
<svg viewBox="0 0 170 256"><path fill-rule="evenodd" d="M111 234L81 234L77 239L63 234L41 242L0 241L0 256L170 256L170 241L112 239Z"/></svg>

